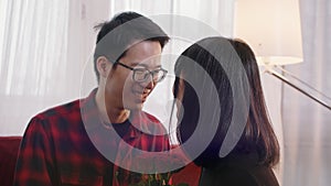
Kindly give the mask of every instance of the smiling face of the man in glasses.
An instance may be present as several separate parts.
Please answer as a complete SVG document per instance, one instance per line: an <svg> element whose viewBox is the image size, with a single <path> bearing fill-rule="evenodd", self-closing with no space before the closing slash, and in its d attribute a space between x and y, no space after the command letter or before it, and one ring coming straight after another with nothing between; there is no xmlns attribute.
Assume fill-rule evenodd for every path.
<svg viewBox="0 0 331 186"><path fill-rule="evenodd" d="M150 72L161 68L161 45L157 41L143 41L131 46L120 63L132 68L145 68ZM134 72L121 65L110 70L105 99L106 105L117 109L142 109L143 102L153 90L156 83L150 77L147 81L137 83L132 79Z"/></svg>

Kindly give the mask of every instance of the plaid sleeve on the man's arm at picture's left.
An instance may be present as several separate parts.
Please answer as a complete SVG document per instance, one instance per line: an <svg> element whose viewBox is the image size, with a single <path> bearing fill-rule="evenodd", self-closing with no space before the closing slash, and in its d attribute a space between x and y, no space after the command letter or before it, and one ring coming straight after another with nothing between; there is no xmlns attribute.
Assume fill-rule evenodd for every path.
<svg viewBox="0 0 331 186"><path fill-rule="evenodd" d="M45 130L46 122L33 118L23 135L14 175L14 186L55 185L52 139Z"/></svg>

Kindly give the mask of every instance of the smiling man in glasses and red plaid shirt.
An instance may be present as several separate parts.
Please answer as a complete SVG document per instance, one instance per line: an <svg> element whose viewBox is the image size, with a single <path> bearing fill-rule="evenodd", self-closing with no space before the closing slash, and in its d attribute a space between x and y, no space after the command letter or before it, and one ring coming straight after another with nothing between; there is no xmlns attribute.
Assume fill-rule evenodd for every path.
<svg viewBox="0 0 331 186"><path fill-rule="evenodd" d="M168 150L163 127L141 111L167 74L160 54L168 40L156 23L135 12L100 24L94 55L98 88L32 118L14 185L128 185L134 178L119 166L132 150Z"/></svg>

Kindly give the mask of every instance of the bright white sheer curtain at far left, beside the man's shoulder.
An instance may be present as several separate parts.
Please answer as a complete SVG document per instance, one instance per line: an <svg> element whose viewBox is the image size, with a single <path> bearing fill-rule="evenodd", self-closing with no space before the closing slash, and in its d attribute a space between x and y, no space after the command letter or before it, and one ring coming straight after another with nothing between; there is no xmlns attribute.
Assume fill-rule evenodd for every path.
<svg viewBox="0 0 331 186"><path fill-rule="evenodd" d="M67 1L0 1L1 135L67 98Z"/></svg>

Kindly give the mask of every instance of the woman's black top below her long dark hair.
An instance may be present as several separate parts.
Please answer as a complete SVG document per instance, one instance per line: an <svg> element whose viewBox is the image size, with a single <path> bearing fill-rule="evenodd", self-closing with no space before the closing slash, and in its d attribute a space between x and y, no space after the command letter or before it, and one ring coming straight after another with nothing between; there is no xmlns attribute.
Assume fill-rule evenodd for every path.
<svg viewBox="0 0 331 186"><path fill-rule="evenodd" d="M258 164L257 153L229 154L203 167L200 186L279 186L273 169Z"/></svg>

